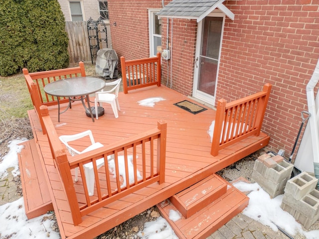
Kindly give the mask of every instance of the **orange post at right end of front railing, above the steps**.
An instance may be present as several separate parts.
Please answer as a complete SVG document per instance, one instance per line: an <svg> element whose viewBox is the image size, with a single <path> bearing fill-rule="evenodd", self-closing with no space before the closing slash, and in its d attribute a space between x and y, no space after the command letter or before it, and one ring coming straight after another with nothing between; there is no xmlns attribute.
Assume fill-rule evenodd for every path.
<svg viewBox="0 0 319 239"><path fill-rule="evenodd" d="M157 172L160 174L159 184L161 184L165 182L167 123L164 120L159 120L158 128L160 129L160 138L158 139Z"/></svg>

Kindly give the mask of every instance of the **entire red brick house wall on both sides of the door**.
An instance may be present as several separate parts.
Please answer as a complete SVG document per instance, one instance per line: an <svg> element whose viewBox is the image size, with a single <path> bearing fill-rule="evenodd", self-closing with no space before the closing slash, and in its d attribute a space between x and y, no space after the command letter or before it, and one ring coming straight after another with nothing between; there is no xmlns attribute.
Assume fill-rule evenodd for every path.
<svg viewBox="0 0 319 239"><path fill-rule="evenodd" d="M148 8L161 8L161 1L108 2L113 49L128 60L149 57ZM284 148L290 154L301 111L308 110L306 85L319 58L319 0L226 0L224 4L235 19L226 17L216 99L235 100L271 83L262 130L271 136L272 150ZM163 49L166 27L163 18ZM184 95L192 94L196 33L195 20L174 18L171 39L170 19L172 59L162 60L162 85L168 80L170 87L171 80L171 87ZM170 64L172 75L167 76Z"/></svg>

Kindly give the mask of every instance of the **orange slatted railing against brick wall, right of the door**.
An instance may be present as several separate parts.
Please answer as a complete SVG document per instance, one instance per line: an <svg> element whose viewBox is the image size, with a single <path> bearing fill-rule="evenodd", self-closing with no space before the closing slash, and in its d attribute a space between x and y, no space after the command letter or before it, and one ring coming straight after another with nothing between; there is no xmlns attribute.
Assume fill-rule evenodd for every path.
<svg viewBox="0 0 319 239"><path fill-rule="evenodd" d="M250 135L260 134L271 85L265 84L263 90L251 96L226 103L217 103L216 119L211 144L211 154Z"/></svg>

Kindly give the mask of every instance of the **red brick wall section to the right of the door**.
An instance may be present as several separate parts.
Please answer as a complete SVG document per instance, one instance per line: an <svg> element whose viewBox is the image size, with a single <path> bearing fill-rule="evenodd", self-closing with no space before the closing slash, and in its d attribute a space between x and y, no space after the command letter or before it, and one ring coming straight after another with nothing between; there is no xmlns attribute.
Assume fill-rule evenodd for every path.
<svg viewBox="0 0 319 239"><path fill-rule="evenodd" d="M318 0L228 0L216 98L238 99L273 85L263 131L291 151L307 111L306 85L319 58Z"/></svg>

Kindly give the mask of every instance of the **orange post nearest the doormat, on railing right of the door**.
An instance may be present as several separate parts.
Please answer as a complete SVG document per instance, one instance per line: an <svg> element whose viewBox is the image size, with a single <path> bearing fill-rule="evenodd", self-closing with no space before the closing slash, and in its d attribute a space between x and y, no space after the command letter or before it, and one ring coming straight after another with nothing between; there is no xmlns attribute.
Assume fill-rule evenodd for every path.
<svg viewBox="0 0 319 239"><path fill-rule="evenodd" d="M220 144L220 135L221 135L221 131L223 128L225 109L226 109L226 100L220 99L217 102L215 126L214 126L213 138L212 138L212 142L211 142L210 154L213 156L218 155L218 149L219 149L219 144Z"/></svg>

